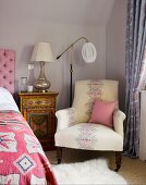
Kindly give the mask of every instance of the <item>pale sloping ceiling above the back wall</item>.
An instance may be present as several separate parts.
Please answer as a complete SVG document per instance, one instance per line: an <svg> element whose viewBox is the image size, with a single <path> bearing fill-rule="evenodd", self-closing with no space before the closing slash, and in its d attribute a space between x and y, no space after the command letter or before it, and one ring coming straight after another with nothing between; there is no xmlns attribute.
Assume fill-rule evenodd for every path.
<svg viewBox="0 0 146 185"><path fill-rule="evenodd" d="M0 0L0 16L106 25L114 0Z"/></svg>

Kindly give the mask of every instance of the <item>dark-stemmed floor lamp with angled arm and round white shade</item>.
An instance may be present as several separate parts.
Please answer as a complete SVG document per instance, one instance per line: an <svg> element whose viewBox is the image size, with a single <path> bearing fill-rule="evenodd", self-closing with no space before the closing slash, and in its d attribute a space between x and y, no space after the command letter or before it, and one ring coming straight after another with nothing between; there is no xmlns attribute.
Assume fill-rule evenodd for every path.
<svg viewBox="0 0 146 185"><path fill-rule="evenodd" d="M86 63L92 63L96 60L97 57L97 52L96 52L96 48L95 46L89 42L87 40L86 37L80 37L77 40L75 40L73 44L71 44L60 55L57 57L57 59L60 59L65 51L68 51L69 49L71 49L71 62L70 62L70 107L72 106L72 87L73 87L73 83L72 83L72 75L73 75L73 46L80 41L81 39L85 40L85 44L82 47L82 57L83 60Z"/></svg>

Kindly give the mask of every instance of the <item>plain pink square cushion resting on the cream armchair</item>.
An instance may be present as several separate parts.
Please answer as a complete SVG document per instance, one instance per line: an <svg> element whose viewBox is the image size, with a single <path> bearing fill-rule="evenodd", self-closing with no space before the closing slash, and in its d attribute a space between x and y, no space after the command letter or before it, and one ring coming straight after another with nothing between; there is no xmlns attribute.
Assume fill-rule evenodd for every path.
<svg viewBox="0 0 146 185"><path fill-rule="evenodd" d="M99 123L112 127L113 111L117 108L117 101L100 101L96 100L93 107L93 112L89 122Z"/></svg>

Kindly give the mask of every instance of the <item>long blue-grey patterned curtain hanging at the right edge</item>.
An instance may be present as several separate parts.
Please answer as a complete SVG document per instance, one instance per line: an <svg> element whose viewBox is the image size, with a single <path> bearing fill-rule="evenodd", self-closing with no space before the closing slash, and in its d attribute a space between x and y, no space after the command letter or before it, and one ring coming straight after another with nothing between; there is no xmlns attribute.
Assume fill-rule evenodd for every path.
<svg viewBox="0 0 146 185"><path fill-rule="evenodd" d="M138 157L139 89L146 85L146 0L127 0L124 155Z"/></svg>

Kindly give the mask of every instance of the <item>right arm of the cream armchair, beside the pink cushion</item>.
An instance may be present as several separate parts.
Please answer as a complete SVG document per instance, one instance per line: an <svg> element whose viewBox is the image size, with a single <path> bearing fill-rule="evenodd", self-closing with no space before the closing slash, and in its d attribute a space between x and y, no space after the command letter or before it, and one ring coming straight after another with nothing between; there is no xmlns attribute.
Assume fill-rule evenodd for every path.
<svg viewBox="0 0 146 185"><path fill-rule="evenodd" d="M113 127L117 133L119 133L123 137L123 121L125 120L125 114L115 110L113 113Z"/></svg>

